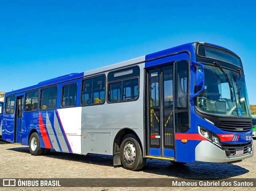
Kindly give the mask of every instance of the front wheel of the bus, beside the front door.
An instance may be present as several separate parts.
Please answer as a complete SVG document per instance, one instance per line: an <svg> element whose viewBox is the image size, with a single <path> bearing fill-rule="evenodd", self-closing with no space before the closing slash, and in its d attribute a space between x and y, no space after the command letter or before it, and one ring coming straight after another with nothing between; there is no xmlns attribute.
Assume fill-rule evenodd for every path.
<svg viewBox="0 0 256 191"><path fill-rule="evenodd" d="M124 168L135 171L145 166L146 159L142 157L140 144L134 134L124 136L120 149L121 161Z"/></svg>

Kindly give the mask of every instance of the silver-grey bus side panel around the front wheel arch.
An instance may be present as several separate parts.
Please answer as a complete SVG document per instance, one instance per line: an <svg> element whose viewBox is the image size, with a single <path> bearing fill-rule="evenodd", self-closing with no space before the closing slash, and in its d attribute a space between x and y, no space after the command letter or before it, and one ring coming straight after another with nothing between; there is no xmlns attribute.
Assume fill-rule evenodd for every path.
<svg viewBox="0 0 256 191"><path fill-rule="evenodd" d="M138 100L120 103L105 102L103 105L82 107L82 154L87 152L113 154L114 138L123 128L134 130L144 147L144 63L139 66L140 95ZM86 129L87 137L84 139ZM87 144L88 150L86 150Z"/></svg>

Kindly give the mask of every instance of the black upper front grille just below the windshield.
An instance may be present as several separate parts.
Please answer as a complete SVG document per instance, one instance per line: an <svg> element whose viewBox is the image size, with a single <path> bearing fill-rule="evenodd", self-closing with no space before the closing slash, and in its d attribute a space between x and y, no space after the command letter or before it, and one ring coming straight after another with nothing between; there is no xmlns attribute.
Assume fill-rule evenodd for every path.
<svg viewBox="0 0 256 191"><path fill-rule="evenodd" d="M217 127L228 132L246 132L252 129L252 122L220 121Z"/></svg>

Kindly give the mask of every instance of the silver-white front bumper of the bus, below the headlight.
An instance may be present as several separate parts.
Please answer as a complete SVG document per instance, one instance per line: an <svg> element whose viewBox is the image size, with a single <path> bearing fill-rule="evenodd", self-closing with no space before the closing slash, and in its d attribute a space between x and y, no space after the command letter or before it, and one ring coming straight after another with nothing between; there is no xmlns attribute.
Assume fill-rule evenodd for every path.
<svg viewBox="0 0 256 191"><path fill-rule="evenodd" d="M254 141L252 140L252 149L250 152L241 155L226 156L226 152L209 141L201 141L196 146L196 161L226 163L250 158L254 154Z"/></svg>

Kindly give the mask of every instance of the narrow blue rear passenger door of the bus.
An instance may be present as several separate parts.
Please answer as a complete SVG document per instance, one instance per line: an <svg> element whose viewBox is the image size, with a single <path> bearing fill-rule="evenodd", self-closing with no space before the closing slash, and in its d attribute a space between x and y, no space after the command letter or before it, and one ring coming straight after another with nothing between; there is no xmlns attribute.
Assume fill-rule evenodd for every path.
<svg viewBox="0 0 256 191"><path fill-rule="evenodd" d="M21 143L23 96L16 98L14 143Z"/></svg>

